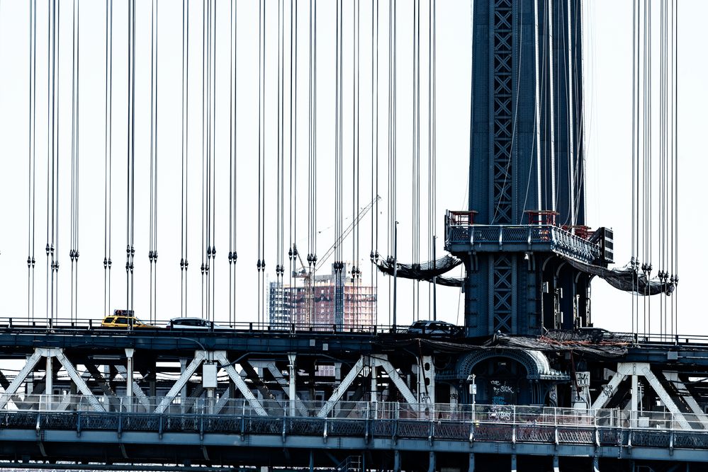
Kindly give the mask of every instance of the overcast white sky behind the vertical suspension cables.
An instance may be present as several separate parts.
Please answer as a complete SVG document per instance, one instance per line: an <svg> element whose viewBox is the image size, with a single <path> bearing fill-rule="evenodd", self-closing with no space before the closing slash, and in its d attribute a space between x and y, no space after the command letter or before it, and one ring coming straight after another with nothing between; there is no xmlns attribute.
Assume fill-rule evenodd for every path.
<svg viewBox="0 0 708 472"><path fill-rule="evenodd" d="M38 2L38 114L37 114L37 211L35 258L36 311L45 315L46 260L46 2ZM201 2L191 2L190 108L189 117L189 315L201 313ZM290 2L286 2L288 5ZM656 4L658 11L659 2ZM0 0L0 316L27 316L28 252L28 2ZM60 316L69 316L69 175L71 155L71 40L72 1L61 1L60 39ZM111 309L125 305L125 156L126 156L126 33L127 6L114 1L113 36L113 299ZM344 169L352 164L352 2L345 2L344 23ZM427 258L427 2L422 4L422 117L421 117L421 258ZM679 16L679 162L680 162L680 286L679 330L708 333L702 304L702 277L707 258L701 246L705 225L699 189L707 174L704 146L704 88L707 52L704 47L704 18L708 4L681 0ZM277 2L268 2L266 105L266 150L269 188L267 191L266 253L268 274L274 280L276 264L276 33ZM307 197L307 72L308 2L299 1L298 21L298 203ZM334 242L334 2L318 2L318 255ZM215 264L216 318L228 317L228 166L229 102L228 47L229 3L218 1L218 85L216 168L217 214ZM80 4L80 87L79 103L79 318L103 316L103 171L104 171L104 52L105 4ZM237 320L257 319L257 144L258 144L258 4L239 1L237 14ZM379 252L386 257L388 221L387 185L387 106L388 106L388 2L380 6L379 73L379 203L381 232ZM631 215L631 1L586 1L585 13L585 98L588 179L588 224L612 226L615 231L615 258L624 265L631 257L629 219ZM398 2L398 213L399 259L412 258L412 2ZM657 15L658 16L658 15ZM466 206L468 169L469 81L471 64L470 3L437 2L437 254L441 255L445 209ZM159 281L157 316L179 316L180 258L180 156L181 156L181 1L159 2L159 125L158 125L158 243ZM658 28L656 28L658 30ZM289 34L289 33L288 33ZM371 2L361 2L361 197L370 200L371 176ZM657 61L658 62L658 61ZM139 316L148 316L149 264L148 197L150 158L150 2L137 2L137 117L136 117L136 268L135 306ZM286 125L287 127L288 125ZM288 152L288 151L286 151ZM286 154L289 160L289 153ZM366 171L365 171L366 169ZM286 171L287 175L287 171ZM287 179L286 179L287 180ZM286 190L286 197L289 191ZM351 221L352 180L344 174L344 221ZM288 203L286 202L286 207ZM360 255L364 282L371 280L370 213L360 226ZM286 211L286 224L288 221ZM306 207L300 205L295 238L305 255ZM287 263L286 234L285 257ZM344 258L351 259L352 240L344 243ZM390 279L379 276L378 321L389 317ZM416 316L412 282L401 281L398 302L399 323ZM421 284L420 317L428 318L428 287ZM612 330L631 328L631 296L619 294L605 282L592 284L592 312L596 326ZM439 318L461 323L458 290L439 289ZM658 316L658 309L652 309Z"/></svg>

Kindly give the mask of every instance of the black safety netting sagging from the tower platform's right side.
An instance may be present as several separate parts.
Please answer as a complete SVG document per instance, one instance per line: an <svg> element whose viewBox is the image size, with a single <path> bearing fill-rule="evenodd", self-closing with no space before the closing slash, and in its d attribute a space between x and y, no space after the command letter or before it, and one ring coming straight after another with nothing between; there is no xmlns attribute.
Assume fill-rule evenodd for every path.
<svg viewBox="0 0 708 472"><path fill-rule="evenodd" d="M632 292L637 295L670 295L676 288L675 281L666 278L654 277L649 279L644 273L636 270L635 267L622 267L621 269L607 269L599 265L585 264L578 260L565 258L566 261L576 269L586 274L597 275L605 280L612 287Z"/></svg>

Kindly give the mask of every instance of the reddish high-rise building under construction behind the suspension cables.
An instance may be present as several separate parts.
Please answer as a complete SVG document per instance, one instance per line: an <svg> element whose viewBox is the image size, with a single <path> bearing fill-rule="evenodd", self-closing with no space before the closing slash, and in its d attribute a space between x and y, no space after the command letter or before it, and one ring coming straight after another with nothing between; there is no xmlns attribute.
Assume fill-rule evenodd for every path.
<svg viewBox="0 0 708 472"><path fill-rule="evenodd" d="M339 280L337 280L339 279ZM376 323L376 287L356 282L349 265L342 272L332 267L326 275L293 277L293 284L269 284L271 326L322 325L322 328L367 328Z"/></svg>

